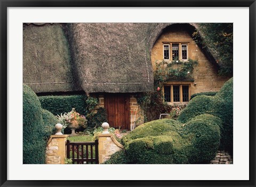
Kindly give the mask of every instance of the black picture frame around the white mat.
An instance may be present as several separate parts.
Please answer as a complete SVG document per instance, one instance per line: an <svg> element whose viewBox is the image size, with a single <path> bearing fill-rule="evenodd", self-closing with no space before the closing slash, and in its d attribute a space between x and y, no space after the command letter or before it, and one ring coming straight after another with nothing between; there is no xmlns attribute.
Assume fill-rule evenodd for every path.
<svg viewBox="0 0 256 187"><path fill-rule="evenodd" d="M7 1L1 6L1 186L255 186L255 0L66 0ZM250 180L249 181L10 181L7 180L7 7L249 7L250 23ZM21 171L22 172L22 171ZM241 171L243 172L243 171Z"/></svg>

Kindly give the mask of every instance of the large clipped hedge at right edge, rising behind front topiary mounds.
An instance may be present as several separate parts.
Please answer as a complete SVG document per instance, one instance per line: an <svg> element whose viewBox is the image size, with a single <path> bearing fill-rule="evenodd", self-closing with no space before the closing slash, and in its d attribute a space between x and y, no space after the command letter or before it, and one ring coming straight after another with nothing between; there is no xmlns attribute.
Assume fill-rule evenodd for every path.
<svg viewBox="0 0 256 187"><path fill-rule="evenodd" d="M178 120L186 123L191 118L209 113L222 120L220 150L233 154L233 78L229 79L215 96L196 96L189 101Z"/></svg>

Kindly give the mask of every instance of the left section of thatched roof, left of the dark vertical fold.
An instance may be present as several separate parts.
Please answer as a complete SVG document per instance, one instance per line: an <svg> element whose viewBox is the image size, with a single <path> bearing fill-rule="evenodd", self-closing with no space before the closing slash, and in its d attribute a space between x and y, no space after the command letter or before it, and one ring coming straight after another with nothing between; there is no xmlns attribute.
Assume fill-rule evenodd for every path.
<svg viewBox="0 0 256 187"><path fill-rule="evenodd" d="M74 86L69 45L59 24L23 25L23 83L34 92L81 90Z"/></svg>

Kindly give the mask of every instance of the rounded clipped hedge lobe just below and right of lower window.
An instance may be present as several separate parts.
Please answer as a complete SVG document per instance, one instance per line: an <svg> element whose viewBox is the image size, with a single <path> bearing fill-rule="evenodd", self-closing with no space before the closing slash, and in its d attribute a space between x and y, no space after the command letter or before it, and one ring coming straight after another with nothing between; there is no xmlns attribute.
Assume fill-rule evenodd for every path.
<svg viewBox="0 0 256 187"><path fill-rule="evenodd" d="M190 100L187 107L181 111L178 120L181 123L186 123L195 116L209 112L212 108L212 104L212 96L196 96L192 100Z"/></svg>

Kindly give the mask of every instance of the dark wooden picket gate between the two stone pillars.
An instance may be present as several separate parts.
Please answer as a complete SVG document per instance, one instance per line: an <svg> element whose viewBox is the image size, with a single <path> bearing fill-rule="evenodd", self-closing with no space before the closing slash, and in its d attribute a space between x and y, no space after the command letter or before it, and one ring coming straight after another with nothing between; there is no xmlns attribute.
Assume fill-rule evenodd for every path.
<svg viewBox="0 0 256 187"><path fill-rule="evenodd" d="M67 140L67 158L72 164L99 164L98 140L95 142L70 142Z"/></svg>

